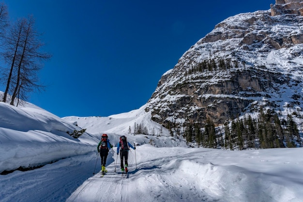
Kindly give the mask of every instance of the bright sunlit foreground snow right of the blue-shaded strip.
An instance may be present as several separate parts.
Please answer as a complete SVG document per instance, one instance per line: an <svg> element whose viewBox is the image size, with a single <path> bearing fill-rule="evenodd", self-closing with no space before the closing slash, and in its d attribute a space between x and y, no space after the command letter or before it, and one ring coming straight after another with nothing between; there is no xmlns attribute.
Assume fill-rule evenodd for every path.
<svg viewBox="0 0 303 202"><path fill-rule="evenodd" d="M128 178L121 177L118 157L117 172L111 163L103 178L90 177L67 202L302 202L303 157L296 155L302 152L142 145L137 169L129 153Z"/></svg>

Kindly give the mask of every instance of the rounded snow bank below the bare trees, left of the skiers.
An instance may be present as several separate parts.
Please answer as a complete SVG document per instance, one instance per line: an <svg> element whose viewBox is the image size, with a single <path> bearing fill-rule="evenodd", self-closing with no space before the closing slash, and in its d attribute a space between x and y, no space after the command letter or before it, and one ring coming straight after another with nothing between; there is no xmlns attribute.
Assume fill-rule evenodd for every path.
<svg viewBox="0 0 303 202"><path fill-rule="evenodd" d="M74 130L81 128L30 103L15 107L0 102L0 172L93 151L98 140L88 133L79 139L66 133Z"/></svg>

